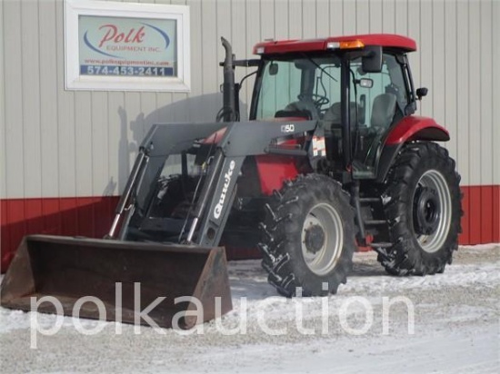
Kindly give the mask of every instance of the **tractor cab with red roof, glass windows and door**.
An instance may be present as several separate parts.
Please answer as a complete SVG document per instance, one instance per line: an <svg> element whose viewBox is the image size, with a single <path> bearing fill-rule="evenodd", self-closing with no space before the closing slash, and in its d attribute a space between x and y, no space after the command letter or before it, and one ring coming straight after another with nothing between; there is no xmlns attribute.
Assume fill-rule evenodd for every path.
<svg viewBox="0 0 500 374"><path fill-rule="evenodd" d="M396 35L358 35L255 45L257 72L250 118L317 120L327 159L374 179L385 138L415 112L406 53L415 42Z"/></svg>

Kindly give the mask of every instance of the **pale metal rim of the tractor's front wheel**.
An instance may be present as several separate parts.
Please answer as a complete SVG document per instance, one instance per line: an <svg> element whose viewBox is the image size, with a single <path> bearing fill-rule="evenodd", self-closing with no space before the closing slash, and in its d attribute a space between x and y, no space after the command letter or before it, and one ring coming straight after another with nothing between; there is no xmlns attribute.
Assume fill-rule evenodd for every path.
<svg viewBox="0 0 500 374"><path fill-rule="evenodd" d="M335 209L325 202L315 205L305 217L301 236L307 267L317 275L332 271L344 246L343 223Z"/></svg>

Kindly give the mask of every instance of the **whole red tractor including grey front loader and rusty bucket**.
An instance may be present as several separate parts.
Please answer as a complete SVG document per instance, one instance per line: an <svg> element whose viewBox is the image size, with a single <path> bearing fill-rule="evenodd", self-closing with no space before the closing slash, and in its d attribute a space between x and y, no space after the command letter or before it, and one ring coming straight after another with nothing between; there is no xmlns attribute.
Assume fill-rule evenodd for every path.
<svg viewBox="0 0 500 374"><path fill-rule="evenodd" d="M394 34L269 41L255 45L259 59L245 61L223 44L218 121L151 128L107 240L28 238L30 254L18 257L58 259L59 268L45 263L40 277L78 269L81 287L95 294L104 280L145 277L131 270L138 266L152 284L155 274L170 277L172 292L202 272L225 274L224 261L203 268L189 260L219 243L260 248L269 282L288 297L297 287L305 296L335 293L357 246L377 251L390 274L444 271L460 232L460 177L435 143L448 141L448 132L415 115L427 93L415 90L406 56L415 41ZM256 68L247 122L239 121L237 66ZM161 254L147 257L138 245ZM49 251L56 253L33 254ZM162 256L166 268L158 269ZM96 273L103 276L92 278ZM210 281L195 282L195 290ZM54 284L52 294L68 281ZM224 280L217 284L214 294L228 292ZM65 300L85 294L73 287L61 293ZM5 290L2 297L9 306Z"/></svg>

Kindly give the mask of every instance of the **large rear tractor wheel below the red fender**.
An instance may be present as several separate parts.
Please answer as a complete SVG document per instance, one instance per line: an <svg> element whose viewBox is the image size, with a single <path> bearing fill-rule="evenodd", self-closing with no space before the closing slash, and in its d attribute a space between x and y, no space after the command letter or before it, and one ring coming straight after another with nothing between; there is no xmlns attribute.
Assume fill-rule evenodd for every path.
<svg viewBox="0 0 500 374"><path fill-rule="evenodd" d="M461 192L455 161L436 143L410 143L395 160L382 196L389 240L378 261L392 275L445 271L458 248Z"/></svg>

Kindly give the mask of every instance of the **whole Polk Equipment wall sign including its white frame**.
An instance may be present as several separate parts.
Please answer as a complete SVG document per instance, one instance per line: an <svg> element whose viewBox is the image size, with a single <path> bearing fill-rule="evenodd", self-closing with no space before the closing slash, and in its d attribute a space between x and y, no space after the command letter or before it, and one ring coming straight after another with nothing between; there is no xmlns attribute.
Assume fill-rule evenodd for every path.
<svg viewBox="0 0 500 374"><path fill-rule="evenodd" d="M189 7L65 0L65 88L189 91Z"/></svg>

